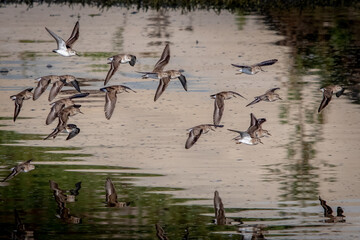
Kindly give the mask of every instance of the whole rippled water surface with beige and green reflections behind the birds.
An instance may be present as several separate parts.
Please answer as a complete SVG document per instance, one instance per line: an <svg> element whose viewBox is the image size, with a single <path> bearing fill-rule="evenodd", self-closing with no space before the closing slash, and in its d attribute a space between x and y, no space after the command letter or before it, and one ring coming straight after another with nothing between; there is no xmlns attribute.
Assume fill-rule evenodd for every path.
<svg viewBox="0 0 360 240"><path fill-rule="evenodd" d="M18 162L34 159L36 169L0 185L0 238L15 229L14 209L36 239L156 239L160 223L170 239L356 239L360 227L358 172L360 114L356 76L360 69L359 14L351 8L270 12L266 16L207 11L139 11L52 5L0 8L0 177ZM62 58L44 26L64 37L80 16L81 57ZM116 19L116 21L114 20ZM6 23L6 24L5 24ZM112 23L112 24L110 24ZM314 23L314 24L312 24ZM157 102L157 81L141 79L169 41L169 68L185 70L188 92L172 81ZM108 71L106 58L131 52L134 68L120 66L110 84L137 93L119 94L110 121L98 92ZM254 76L235 75L231 63L279 62ZM9 100L35 78L72 74L79 78L84 115L71 118L81 133L43 141L47 92L27 100L15 123ZM321 114L318 89L343 84ZM267 89L280 87L282 101L245 105ZM74 93L64 88L62 96ZM71 91L70 91L71 90ZM264 145L236 145L232 133L217 129L184 149L185 129L212 122L209 95L235 90L247 100L226 101L225 128L247 129L249 114L266 117L272 134ZM62 97L61 96L61 97ZM55 126L54 126L55 125ZM111 177L119 199L130 207L105 206L105 179ZM82 182L77 201L68 203L80 224L57 217L49 180L71 189ZM218 190L226 215L240 226L216 226L213 193ZM346 223L326 223L318 196Z"/></svg>

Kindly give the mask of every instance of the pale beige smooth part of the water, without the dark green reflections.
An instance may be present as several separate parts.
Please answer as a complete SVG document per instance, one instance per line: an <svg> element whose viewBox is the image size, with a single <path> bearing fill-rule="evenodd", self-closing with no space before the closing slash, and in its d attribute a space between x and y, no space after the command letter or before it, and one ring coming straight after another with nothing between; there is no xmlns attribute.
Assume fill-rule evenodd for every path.
<svg viewBox="0 0 360 240"><path fill-rule="evenodd" d="M66 38L76 22L76 17L69 16L80 13L80 39L74 49L80 53L110 52L108 57L112 52L138 56L135 67L122 65L109 83L125 84L137 93L118 95L111 120L105 119L102 93L79 101L84 115L72 117L69 123L77 124L81 133L71 141L65 141L62 135L55 140L26 141L22 144L80 147L79 153L92 154L82 159L84 162L81 164L136 167L139 172L163 174L161 177L139 179L135 184L184 188L171 194L179 198L209 199L200 201L202 204L211 205L213 192L218 190L226 207L278 207L281 202L279 196L284 192L281 181L276 181L279 175L276 171L269 171L269 166L282 168L289 161L298 161L298 156L302 154L298 152L294 159L287 159L286 145L292 138L294 125L291 121L290 124L281 124L280 107L290 108L293 120L297 118L297 113L294 113L297 108L288 100L287 82L294 61L288 55L290 49L274 45L282 37L269 30L263 19L257 16L245 16L244 25L239 27L236 16L226 12L216 15L198 11L181 15L168 11L164 18L153 11L131 14L132 11L112 8L100 12L101 16L91 17L89 14L97 14L98 10L60 6L39 6L29 10L22 6L1 8L0 22L6 24L1 24L0 28L0 52L1 55L9 55L5 60L8 61L6 67L11 69L12 61L18 61L24 51L39 52L41 56L35 60L21 60L26 67L20 69L15 66L7 76L1 77L0 100L3 104L0 106L0 117L12 117L14 104L9 96L26 87L35 87L34 79L37 77L72 74L83 78L105 78L107 69L93 72L90 65L105 64L106 58L63 58L51 53L55 42L44 26L54 31L61 30L59 34ZM51 17L51 14L59 16ZM160 21L153 20L157 18ZM159 23L164 23L160 30L156 27ZM117 39L122 42L120 45L114 39L118 29L122 29L121 38ZM153 35L158 37L151 37ZM19 40L23 39L46 42L20 43ZM170 41L171 60L167 69L184 69L189 91L185 92L179 81L172 80L165 93L154 102L158 81L143 80L135 72L152 69L164 46L157 46L157 41ZM236 69L230 65L252 64L272 58L277 58L278 63L265 67L266 72L254 76L236 75ZM46 68L49 61L53 63L50 69ZM28 77L14 79L12 75ZM316 111L321 93L315 91L320 86L315 75L308 82L311 94L308 99L300 101L304 105L314 105ZM91 82L90 86L82 87L82 91L102 86L102 81ZM260 102L245 107L254 96L273 87L281 88L282 101ZM191 149L186 150L186 129L212 123L214 103L209 96L225 90L237 91L247 100L227 100L221 122L225 127L202 135ZM24 102L19 117L30 119L19 118L15 123L3 121L7 124L3 129L39 133L44 137L49 134L56 123L45 125L49 112L48 92L37 101ZM236 134L226 130L246 130L250 113L267 119L263 128L269 130L272 136L263 138L263 145L235 144L231 139ZM325 124L315 134L320 140L315 144L316 157L311 161L316 169L312 172L319 176L316 180L319 182L319 194L334 205L346 208L353 205L352 201L359 202L360 199L360 130L356 127L360 112L358 105L350 104L342 97L334 99L323 116ZM314 134L311 128L305 131ZM328 168L329 164L336 167ZM330 181L331 177L336 180ZM317 202L314 199L313 203ZM346 210L353 211L350 217L360 216L358 207ZM322 210L318 207L310 211Z"/></svg>

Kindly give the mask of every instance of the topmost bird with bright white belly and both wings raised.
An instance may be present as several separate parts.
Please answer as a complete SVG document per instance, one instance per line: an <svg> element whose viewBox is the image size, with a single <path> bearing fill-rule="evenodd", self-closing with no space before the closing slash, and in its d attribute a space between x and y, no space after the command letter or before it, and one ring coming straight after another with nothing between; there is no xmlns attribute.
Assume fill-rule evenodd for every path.
<svg viewBox="0 0 360 240"><path fill-rule="evenodd" d="M45 27L45 29L56 40L57 49L53 50L54 53L58 53L64 57L71 57L71 56L79 55L75 50L72 49L72 46L74 45L76 40L78 40L79 35L80 35L79 21L76 22L74 29L73 29L69 39L66 40L66 42L61 37L56 35L53 31L48 29L47 27Z"/></svg>

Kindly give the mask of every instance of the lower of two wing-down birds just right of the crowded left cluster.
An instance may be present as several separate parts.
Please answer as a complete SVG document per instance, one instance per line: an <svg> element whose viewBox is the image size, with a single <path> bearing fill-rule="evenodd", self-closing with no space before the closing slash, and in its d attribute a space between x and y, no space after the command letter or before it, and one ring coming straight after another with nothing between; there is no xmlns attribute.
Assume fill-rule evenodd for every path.
<svg viewBox="0 0 360 240"><path fill-rule="evenodd" d="M129 91L133 91L134 93L136 93L134 90L132 90L131 88L126 87L124 85L113 85L113 86L109 86L109 87L104 87L104 88L101 88L100 91L106 92L104 111L105 111L105 117L107 120L110 120L110 118L114 112L116 101L117 101L116 94L123 93L123 92L128 93Z"/></svg>

